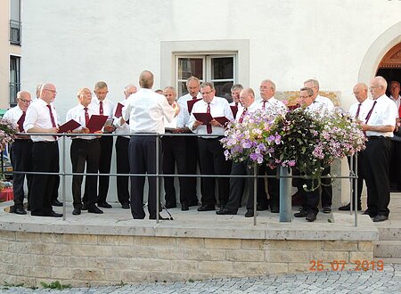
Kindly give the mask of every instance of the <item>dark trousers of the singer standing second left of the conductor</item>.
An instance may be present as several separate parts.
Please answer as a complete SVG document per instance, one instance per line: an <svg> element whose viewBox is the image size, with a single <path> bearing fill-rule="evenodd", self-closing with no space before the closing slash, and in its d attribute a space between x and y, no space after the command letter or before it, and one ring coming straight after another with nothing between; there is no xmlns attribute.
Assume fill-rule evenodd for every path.
<svg viewBox="0 0 401 294"><path fill-rule="evenodd" d="M99 174L110 174L111 153L113 151L113 137L102 136L100 138L101 156L99 161ZM97 202L106 202L107 193L109 192L110 176L99 176L99 192L97 194Z"/></svg>

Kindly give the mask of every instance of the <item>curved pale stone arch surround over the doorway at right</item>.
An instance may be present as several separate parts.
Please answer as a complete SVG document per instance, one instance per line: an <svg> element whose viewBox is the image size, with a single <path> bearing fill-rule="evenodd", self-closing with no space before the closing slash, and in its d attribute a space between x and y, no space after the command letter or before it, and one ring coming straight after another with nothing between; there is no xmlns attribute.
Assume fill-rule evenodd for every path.
<svg viewBox="0 0 401 294"><path fill-rule="evenodd" d="M379 65L386 53L401 43L400 32L401 21L387 29L372 43L364 55L364 60L359 69L358 81L366 83L376 75L377 69L379 69Z"/></svg>

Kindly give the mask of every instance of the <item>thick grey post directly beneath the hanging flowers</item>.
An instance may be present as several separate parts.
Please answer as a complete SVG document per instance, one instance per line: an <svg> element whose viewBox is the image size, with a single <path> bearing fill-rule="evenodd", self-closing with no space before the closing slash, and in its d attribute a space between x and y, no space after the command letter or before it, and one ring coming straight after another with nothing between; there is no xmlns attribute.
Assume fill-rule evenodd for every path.
<svg viewBox="0 0 401 294"><path fill-rule="evenodd" d="M291 223L291 177L289 167L280 167L280 222Z"/></svg>

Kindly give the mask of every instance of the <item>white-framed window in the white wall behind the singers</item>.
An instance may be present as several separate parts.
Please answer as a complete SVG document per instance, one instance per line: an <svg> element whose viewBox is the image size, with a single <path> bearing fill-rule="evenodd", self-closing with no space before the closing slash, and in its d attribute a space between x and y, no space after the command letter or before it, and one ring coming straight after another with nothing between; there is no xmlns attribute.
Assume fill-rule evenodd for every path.
<svg viewBox="0 0 401 294"><path fill-rule="evenodd" d="M176 89L178 97L187 93L185 82L190 77L213 82L216 95L231 98L235 83L235 54L176 55Z"/></svg>

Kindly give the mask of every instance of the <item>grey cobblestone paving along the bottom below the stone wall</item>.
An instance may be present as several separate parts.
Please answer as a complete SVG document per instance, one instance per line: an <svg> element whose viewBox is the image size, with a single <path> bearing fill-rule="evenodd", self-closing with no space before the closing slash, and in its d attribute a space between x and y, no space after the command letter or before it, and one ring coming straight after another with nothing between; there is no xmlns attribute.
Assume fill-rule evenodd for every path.
<svg viewBox="0 0 401 294"><path fill-rule="evenodd" d="M191 282L152 282L124 286L99 286L65 290L1 286L2 293L128 294L128 293L401 293L401 265L366 272L315 272L252 278L214 279Z"/></svg>

